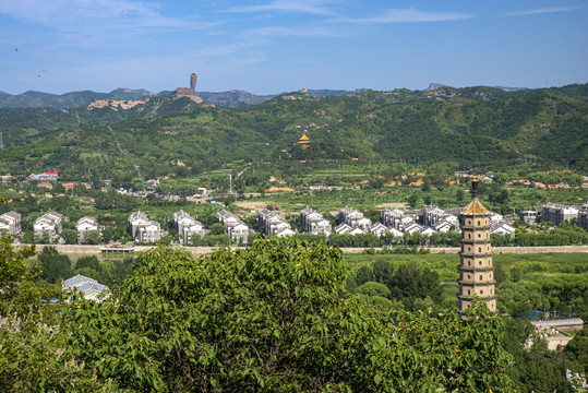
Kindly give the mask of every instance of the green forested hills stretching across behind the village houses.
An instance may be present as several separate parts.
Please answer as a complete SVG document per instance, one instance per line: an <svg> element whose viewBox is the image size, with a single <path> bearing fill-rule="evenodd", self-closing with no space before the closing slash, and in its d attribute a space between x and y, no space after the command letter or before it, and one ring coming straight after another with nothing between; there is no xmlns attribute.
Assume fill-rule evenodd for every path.
<svg viewBox="0 0 588 393"><path fill-rule="evenodd" d="M0 109L5 171L81 179L215 169L229 160L521 162L588 170L587 85L284 94L241 110L154 97L131 109ZM311 145L296 147L305 133Z"/></svg>

